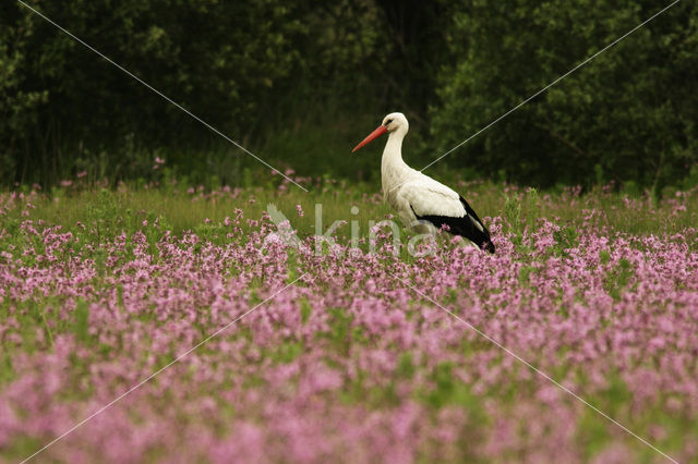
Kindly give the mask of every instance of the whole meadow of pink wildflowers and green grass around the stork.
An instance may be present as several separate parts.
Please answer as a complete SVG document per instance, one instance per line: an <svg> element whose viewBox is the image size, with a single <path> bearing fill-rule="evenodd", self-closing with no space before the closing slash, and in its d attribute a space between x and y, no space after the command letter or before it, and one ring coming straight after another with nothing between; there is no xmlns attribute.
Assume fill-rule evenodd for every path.
<svg viewBox="0 0 698 464"><path fill-rule="evenodd" d="M698 460L698 188L457 181L497 253L414 256L376 185L297 180L0 194L0 460L96 412L34 459Z"/></svg>

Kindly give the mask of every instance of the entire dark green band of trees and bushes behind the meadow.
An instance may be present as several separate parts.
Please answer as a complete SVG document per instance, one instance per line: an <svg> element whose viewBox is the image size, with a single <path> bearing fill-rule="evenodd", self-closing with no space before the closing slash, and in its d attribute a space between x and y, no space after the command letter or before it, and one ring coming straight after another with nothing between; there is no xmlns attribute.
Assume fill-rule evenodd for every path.
<svg viewBox="0 0 698 464"><path fill-rule="evenodd" d="M297 174L374 180L349 149L388 111L426 164L667 3L32 1ZM682 1L435 164L550 187L698 182L698 4ZM0 181L77 172L239 185L258 164L17 2L0 7ZM245 174L246 172L246 174Z"/></svg>

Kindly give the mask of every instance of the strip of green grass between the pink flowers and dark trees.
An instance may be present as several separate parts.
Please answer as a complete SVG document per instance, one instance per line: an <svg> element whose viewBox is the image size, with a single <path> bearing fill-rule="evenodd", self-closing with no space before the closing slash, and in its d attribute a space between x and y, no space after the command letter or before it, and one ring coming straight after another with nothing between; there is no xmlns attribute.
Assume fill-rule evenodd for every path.
<svg viewBox="0 0 698 464"><path fill-rule="evenodd" d="M686 210L677 211L672 198L655 202L649 197L627 197L622 193L604 193L595 188L575 197L569 194L542 194L535 190L503 187L492 183L452 183L461 192L481 217L502 217L504 225L514 233L534 228L537 221L546 218L558 225L568 227L559 233L561 242L575 240L575 228L585 217L598 228L611 228L628 234L674 234L698 223L698 195L682 199ZM381 200L380 185L344 185L325 181L311 186L309 193L288 184L286 191L273 186L241 190L237 197L216 191L186 193L184 187L168 186L145 188L135 185L117 190L86 186L79 190L55 188L31 198L34 209L25 209L26 200L16 200L5 216L0 216L3 227L22 219L41 219L47 224L61 224L77 231L83 224L97 236L139 230L143 221L158 220L163 229L174 234L195 231L208 220L212 224L234 217L236 209L243 210L244 219L260 219L273 204L291 222L300 236L315 233L315 211L322 208L323 233L335 221L345 221L338 228L338 236L349 236L351 222L356 221L361 236L366 236L370 221L380 222L394 211ZM9 193L0 194L4 198ZM304 216L297 212L300 205ZM352 207L358 208L358 212ZM28 211L22 216L22 211ZM26 215L26 212L25 212ZM243 224L244 225L244 224ZM356 227L354 225L354 227ZM244 227L243 227L244 229Z"/></svg>

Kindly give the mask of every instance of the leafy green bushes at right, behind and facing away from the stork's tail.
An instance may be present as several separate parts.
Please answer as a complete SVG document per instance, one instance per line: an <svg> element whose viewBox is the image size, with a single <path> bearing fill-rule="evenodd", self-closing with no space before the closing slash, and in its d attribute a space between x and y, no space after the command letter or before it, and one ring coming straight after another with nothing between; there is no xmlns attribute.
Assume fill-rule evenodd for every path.
<svg viewBox="0 0 698 464"><path fill-rule="evenodd" d="M448 149L659 11L648 0L485 2L455 14L432 132ZM454 154L529 185L661 192L698 160L698 4L681 2Z"/></svg>

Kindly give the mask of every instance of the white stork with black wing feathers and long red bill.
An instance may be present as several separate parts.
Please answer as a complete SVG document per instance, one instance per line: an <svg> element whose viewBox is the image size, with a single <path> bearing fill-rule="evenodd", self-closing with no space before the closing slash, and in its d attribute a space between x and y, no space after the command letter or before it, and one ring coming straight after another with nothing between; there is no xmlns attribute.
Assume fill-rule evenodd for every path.
<svg viewBox="0 0 698 464"><path fill-rule="evenodd" d="M402 160L402 139L409 131L405 114L394 112L351 152L383 134L388 141L381 160L381 181L385 202L397 211L400 221L416 233L434 234L446 229L482 251L494 253L490 231L468 202L441 182L410 168Z"/></svg>

